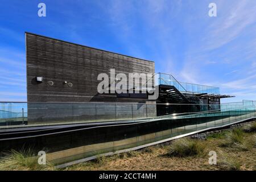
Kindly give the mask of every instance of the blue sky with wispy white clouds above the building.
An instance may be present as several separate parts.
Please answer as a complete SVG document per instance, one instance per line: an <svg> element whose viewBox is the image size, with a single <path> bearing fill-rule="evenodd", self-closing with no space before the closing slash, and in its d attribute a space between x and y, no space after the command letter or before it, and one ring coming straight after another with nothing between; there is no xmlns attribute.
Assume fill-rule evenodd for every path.
<svg viewBox="0 0 256 182"><path fill-rule="evenodd" d="M256 100L256 1L2 0L0 12L0 101L26 101L24 31L153 60L156 72L237 96L224 102Z"/></svg>

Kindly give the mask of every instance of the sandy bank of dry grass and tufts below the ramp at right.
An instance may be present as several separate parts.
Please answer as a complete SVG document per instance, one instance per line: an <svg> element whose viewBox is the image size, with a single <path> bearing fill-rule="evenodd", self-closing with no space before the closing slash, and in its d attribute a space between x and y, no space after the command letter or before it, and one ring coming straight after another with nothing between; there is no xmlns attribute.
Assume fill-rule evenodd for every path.
<svg viewBox="0 0 256 182"><path fill-rule="evenodd" d="M255 141L254 133L234 129L214 133L204 141L181 138L168 145L134 151L134 154L108 156L103 164L86 162L65 170L255 170L256 148L241 150L246 142L255 146ZM229 144L222 147L222 143ZM208 164L207 154L212 150L217 152L217 165Z"/></svg>

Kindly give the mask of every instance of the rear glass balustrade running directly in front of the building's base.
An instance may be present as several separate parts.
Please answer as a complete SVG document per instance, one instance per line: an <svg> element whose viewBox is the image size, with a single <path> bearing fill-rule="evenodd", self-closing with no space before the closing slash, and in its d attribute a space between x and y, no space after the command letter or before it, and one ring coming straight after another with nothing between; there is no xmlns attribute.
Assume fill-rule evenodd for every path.
<svg viewBox="0 0 256 182"><path fill-rule="evenodd" d="M175 115L213 113L255 105L253 101L214 105L214 110L189 111L207 104L146 104L146 103L79 103L79 102L0 102L0 127L19 125L59 125L69 123L115 122L138 119L159 119ZM210 106L213 106L212 104ZM3 110L5 109L5 110ZM165 109L166 113L158 114ZM178 110L177 110L178 109ZM169 112L172 110L172 113ZM183 112L179 112L183 111ZM184 111L187 111L184 113ZM159 115L159 116L157 116Z"/></svg>

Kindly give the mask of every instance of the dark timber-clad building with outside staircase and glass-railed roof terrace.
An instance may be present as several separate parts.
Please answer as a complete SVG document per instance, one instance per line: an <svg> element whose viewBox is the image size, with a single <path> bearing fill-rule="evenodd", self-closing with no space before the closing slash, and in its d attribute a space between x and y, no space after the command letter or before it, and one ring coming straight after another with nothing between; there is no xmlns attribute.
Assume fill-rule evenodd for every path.
<svg viewBox="0 0 256 182"><path fill-rule="evenodd" d="M171 113L219 109L218 88L180 83L171 75L159 74L159 98L144 94L98 94L100 73L155 73L154 61L26 32L28 122L86 119L130 119ZM42 80L38 80L42 78ZM167 77L167 78L166 78ZM153 78L156 79L156 78ZM169 82L170 81L170 82ZM188 85L190 86L190 85ZM210 93L210 94L209 94ZM34 102L34 103L33 103ZM35 103L37 102L37 103ZM40 102L40 103L39 103ZM51 104L49 104L51 102ZM54 104L52 104L54 102ZM72 103L71 102L76 102ZM82 102L82 104L81 104ZM98 104L97 103L108 103ZM113 103L113 104L109 104ZM134 105L127 104L134 103ZM158 104L195 104L166 106ZM118 104L118 105L115 105ZM147 104L147 105L146 105ZM207 104L208 108L204 105Z"/></svg>

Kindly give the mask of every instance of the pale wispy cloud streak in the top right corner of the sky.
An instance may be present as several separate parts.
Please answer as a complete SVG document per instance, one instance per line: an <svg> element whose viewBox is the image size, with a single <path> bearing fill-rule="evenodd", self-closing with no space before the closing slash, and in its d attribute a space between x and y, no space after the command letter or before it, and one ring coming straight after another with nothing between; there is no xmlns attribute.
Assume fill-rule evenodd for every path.
<svg viewBox="0 0 256 182"><path fill-rule="evenodd" d="M210 24L208 34L203 38L206 45L202 48L205 50L219 48L238 38L245 28L256 20L254 1L226 1L222 6L217 3L217 8L220 15Z"/></svg>

